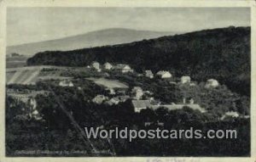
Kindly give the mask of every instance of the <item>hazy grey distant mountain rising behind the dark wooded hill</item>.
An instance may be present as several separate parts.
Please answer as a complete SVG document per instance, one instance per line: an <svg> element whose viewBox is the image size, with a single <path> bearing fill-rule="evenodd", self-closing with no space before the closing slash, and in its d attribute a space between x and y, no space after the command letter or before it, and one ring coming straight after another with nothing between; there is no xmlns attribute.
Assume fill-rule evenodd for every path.
<svg viewBox="0 0 256 162"><path fill-rule="evenodd" d="M7 47L7 54L20 53L24 55L33 55L42 51L65 51L84 47L122 44L160 36L170 36L173 34L176 33L111 28L101 31L91 31L78 36L67 36L56 40L9 46Z"/></svg>

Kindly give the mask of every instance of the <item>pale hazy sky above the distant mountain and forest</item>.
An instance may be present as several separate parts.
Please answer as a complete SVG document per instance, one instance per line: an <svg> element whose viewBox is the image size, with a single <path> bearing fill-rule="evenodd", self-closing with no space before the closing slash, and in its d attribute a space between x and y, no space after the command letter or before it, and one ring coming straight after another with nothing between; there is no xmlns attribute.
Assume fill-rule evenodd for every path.
<svg viewBox="0 0 256 162"><path fill-rule="evenodd" d="M8 8L8 46L108 28L188 32L249 26L250 8Z"/></svg>

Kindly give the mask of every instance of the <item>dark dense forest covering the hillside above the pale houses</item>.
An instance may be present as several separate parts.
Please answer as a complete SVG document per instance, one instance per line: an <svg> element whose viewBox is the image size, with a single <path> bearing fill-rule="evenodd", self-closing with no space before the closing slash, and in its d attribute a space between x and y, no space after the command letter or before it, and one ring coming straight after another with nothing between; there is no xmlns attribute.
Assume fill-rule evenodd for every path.
<svg viewBox="0 0 256 162"><path fill-rule="evenodd" d="M92 61L130 64L143 70L171 70L195 81L216 78L232 91L250 94L250 27L229 27L163 36L126 44L73 51L45 51L28 65L84 66Z"/></svg>

